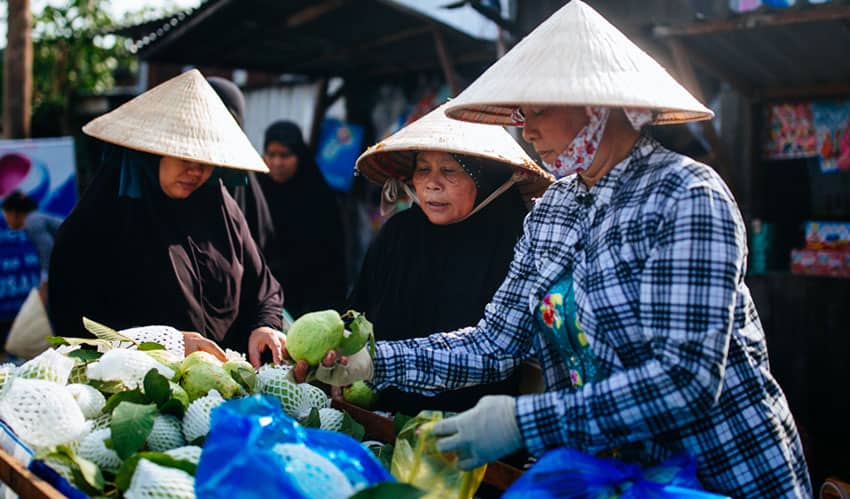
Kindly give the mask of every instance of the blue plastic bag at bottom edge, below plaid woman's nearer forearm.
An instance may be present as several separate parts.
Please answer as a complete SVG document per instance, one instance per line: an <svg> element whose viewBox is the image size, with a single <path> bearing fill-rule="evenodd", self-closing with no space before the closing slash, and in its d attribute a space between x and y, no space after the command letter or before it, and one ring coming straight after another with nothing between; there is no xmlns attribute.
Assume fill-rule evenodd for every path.
<svg viewBox="0 0 850 499"><path fill-rule="evenodd" d="M603 459L575 449L547 452L505 491L502 499L581 497L587 499L721 499L702 490L696 461L674 456L658 466Z"/></svg>

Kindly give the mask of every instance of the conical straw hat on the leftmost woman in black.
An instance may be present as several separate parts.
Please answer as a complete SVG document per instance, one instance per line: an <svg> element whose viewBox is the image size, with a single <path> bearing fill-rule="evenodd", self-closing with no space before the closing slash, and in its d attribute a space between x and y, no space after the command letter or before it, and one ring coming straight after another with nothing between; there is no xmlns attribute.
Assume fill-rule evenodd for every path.
<svg viewBox="0 0 850 499"><path fill-rule="evenodd" d="M157 85L83 132L119 146L213 166L269 169L200 71Z"/></svg>

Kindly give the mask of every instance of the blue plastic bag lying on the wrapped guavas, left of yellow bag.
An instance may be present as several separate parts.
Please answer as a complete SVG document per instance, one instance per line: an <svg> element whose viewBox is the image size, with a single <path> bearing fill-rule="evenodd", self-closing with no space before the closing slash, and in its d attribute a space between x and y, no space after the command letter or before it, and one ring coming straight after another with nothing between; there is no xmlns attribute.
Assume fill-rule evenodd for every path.
<svg viewBox="0 0 850 499"><path fill-rule="evenodd" d="M287 461L275 451L281 444L295 444L284 447L302 451L305 459ZM324 458L319 458L322 461L330 461L355 491L394 481L372 453L353 438L304 428L283 412L277 399L254 395L227 401L213 410L195 475L195 493L198 497L227 499L315 497L306 489L313 486L327 490L331 485L300 481L306 477L287 470L292 471L293 464L299 469L309 468L311 456L317 454Z"/></svg>

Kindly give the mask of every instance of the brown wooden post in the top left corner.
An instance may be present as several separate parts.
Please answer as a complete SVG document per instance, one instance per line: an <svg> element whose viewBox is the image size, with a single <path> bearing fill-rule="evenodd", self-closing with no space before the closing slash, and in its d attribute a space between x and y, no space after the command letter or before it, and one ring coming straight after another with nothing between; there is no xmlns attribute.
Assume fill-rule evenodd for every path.
<svg viewBox="0 0 850 499"><path fill-rule="evenodd" d="M3 57L3 135L30 136L32 117L32 13L30 0L9 0L6 52Z"/></svg>

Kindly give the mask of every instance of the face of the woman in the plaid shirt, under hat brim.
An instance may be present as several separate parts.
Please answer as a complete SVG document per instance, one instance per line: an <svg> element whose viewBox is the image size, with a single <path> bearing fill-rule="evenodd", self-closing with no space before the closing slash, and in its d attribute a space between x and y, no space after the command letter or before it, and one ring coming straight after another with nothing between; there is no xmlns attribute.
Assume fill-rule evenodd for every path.
<svg viewBox="0 0 850 499"><path fill-rule="evenodd" d="M588 122L583 107L522 106L520 109L525 115L522 138L549 164L558 159Z"/></svg>

